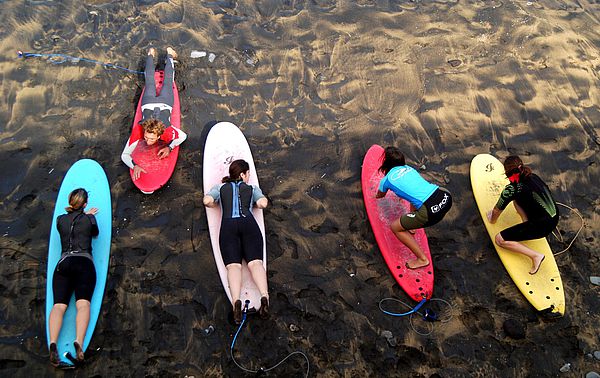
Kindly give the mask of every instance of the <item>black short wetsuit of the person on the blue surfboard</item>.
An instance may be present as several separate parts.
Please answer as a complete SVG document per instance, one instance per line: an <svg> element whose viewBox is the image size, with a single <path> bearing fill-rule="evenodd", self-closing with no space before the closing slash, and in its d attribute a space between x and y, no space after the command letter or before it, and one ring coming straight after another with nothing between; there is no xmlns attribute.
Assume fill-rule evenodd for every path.
<svg viewBox="0 0 600 378"><path fill-rule="evenodd" d="M62 245L61 258L54 269L52 291L54 303L69 304L75 300L90 301L96 287L96 269L92 258L92 237L99 233L96 217L76 210L56 220Z"/></svg>

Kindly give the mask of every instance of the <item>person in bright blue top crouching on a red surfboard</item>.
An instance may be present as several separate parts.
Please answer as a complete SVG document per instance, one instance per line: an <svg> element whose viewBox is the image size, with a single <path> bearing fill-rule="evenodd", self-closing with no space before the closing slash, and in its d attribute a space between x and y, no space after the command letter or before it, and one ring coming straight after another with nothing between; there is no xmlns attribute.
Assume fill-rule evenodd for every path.
<svg viewBox="0 0 600 378"><path fill-rule="evenodd" d="M406 245L416 259L406 262L409 269L429 265L411 230L433 226L441 221L452 207L452 195L442 187L427 182L419 172L406 165L404 154L396 147L386 147L381 155L379 171L385 176L379 182L375 198L385 197L388 190L410 202L411 212L392 222L394 235Z"/></svg>

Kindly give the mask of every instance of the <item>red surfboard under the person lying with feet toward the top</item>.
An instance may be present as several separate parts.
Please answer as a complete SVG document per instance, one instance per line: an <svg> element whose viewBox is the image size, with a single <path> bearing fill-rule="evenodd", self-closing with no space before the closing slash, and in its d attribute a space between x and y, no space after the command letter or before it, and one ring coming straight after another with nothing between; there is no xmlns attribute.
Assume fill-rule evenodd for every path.
<svg viewBox="0 0 600 378"><path fill-rule="evenodd" d="M154 73L156 81L156 91L160 93L160 90L164 81L164 71L156 71ZM131 131L131 138L129 140L136 141L139 139L138 145L131 154L133 161L146 170L146 173L142 173L140 178L133 180L133 169L129 170L131 179L135 186L137 186L143 193L150 194L155 190L161 188L169 181L173 171L175 170L175 164L177 163L177 157L179 156L179 146L175 147L173 151L164 159L159 159L157 154L158 150L167 146L173 139L172 133L174 130L167 127L164 134L158 140L158 142L149 146L144 140L144 130L140 126L142 120L142 97L144 91L140 95L138 101L137 111L135 112L135 118L133 120L133 129ZM181 109L179 104L179 92L177 91L177 85L173 82L173 110L171 112L171 124L178 129L181 129Z"/></svg>

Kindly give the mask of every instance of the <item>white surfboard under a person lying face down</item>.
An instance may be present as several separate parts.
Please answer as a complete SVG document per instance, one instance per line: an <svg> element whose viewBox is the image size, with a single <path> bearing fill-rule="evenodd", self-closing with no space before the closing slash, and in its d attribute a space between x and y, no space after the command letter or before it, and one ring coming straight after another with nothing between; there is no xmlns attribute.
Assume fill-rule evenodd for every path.
<svg viewBox="0 0 600 378"><path fill-rule="evenodd" d="M213 186L220 184L224 176L229 175L229 165L232 161L244 159L250 165L249 184L258 186L258 174L254 167L252 152L244 134L236 125L230 122L219 122L214 125L206 138L204 145L204 163L203 163L203 188L207 193ZM212 244L215 263L219 270L221 283L231 302L231 292L227 283L227 269L223 263L221 249L219 247L219 231L221 228L221 207L206 208L206 217L208 218L208 228L210 231L210 241ZM256 207L252 209L254 219L260 227L263 236L263 266L267 270L267 243L265 240L265 222L263 211ZM260 291L256 287L246 261L242 262L242 291L240 299L242 304L246 300L250 301L248 309L258 311L260 309Z"/></svg>

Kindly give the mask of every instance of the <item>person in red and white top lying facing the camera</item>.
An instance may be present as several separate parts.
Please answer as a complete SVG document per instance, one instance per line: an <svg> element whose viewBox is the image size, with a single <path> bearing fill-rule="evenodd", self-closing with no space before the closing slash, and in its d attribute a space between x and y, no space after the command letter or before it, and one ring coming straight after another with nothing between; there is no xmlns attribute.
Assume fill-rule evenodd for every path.
<svg viewBox="0 0 600 378"><path fill-rule="evenodd" d="M159 139L166 146L158 150L159 159L164 159L175 148L187 138L187 134L181 129L171 125L171 111L175 97L173 95L173 81L175 79L175 64L173 59L177 58L177 53L171 47L167 48L167 59L165 61L165 77L160 94L156 93L156 84L154 79L154 59L156 58L156 49L151 47L148 50L146 58L146 68L144 70L145 86L142 96L142 120L139 125L133 127L133 131L123 152L121 160L129 168L133 169L133 179L137 180L142 173L146 173L144 167L141 167L133 161L131 154L143 139L147 145L153 145Z"/></svg>

